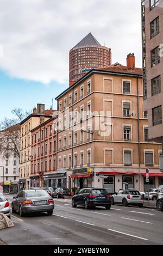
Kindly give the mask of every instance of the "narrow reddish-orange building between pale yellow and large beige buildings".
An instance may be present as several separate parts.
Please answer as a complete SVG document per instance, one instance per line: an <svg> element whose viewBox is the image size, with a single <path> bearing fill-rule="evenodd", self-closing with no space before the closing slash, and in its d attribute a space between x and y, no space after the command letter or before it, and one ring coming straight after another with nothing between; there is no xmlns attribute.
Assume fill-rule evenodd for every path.
<svg viewBox="0 0 163 256"><path fill-rule="evenodd" d="M60 174L57 172L57 118L48 119L31 132L30 187L60 187Z"/></svg>

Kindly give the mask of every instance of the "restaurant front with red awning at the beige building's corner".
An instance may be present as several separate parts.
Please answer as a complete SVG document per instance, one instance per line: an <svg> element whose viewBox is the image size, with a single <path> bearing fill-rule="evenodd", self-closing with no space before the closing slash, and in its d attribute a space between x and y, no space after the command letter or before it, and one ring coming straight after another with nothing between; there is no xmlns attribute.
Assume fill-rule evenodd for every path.
<svg viewBox="0 0 163 256"><path fill-rule="evenodd" d="M70 175L70 179L72 179L72 187L69 189L77 193L80 189L84 187L92 187L92 175L94 174L94 168L81 168L81 169L73 169L72 175Z"/></svg>

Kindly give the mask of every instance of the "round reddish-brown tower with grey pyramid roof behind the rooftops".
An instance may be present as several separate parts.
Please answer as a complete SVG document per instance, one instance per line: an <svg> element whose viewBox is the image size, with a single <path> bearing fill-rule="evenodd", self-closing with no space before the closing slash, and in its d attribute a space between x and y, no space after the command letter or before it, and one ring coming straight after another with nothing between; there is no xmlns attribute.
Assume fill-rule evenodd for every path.
<svg viewBox="0 0 163 256"><path fill-rule="evenodd" d="M111 65L111 49L99 44L91 32L70 50L69 57L70 86L91 69Z"/></svg>

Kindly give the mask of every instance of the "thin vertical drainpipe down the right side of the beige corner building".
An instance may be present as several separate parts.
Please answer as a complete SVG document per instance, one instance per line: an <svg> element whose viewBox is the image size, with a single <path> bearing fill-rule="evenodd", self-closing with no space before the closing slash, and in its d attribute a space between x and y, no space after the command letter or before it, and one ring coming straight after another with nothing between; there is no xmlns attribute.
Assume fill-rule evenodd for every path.
<svg viewBox="0 0 163 256"><path fill-rule="evenodd" d="M139 143L139 190L141 191L141 145L140 145L140 116L139 116L139 78L137 77L137 136Z"/></svg>

